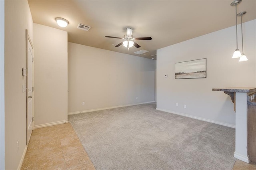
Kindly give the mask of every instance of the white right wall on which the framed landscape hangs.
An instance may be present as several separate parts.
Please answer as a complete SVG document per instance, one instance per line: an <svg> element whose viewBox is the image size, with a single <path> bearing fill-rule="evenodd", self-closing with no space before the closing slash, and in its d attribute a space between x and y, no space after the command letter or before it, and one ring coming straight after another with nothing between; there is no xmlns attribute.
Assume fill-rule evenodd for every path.
<svg viewBox="0 0 256 170"><path fill-rule="evenodd" d="M242 51L239 28L238 48ZM243 30L244 53L249 59L245 62L231 58L236 49L235 26L158 49L157 109L234 127L230 97L212 88L256 86L256 20L244 23ZM175 63L201 58L207 58L207 78L174 79Z"/></svg>

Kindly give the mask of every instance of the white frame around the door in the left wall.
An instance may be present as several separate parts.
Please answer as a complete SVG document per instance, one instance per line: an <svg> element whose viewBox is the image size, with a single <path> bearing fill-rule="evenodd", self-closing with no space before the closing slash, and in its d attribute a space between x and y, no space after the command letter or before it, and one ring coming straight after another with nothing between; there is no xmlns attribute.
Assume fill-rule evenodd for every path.
<svg viewBox="0 0 256 170"><path fill-rule="evenodd" d="M30 39L28 34L28 30L26 29L26 75L28 75L28 43L31 44L32 49L34 49L34 45ZM32 51L32 57L34 58L34 50ZM34 62L32 62L32 87L34 87ZM28 146L28 76L26 76L26 145ZM32 90L33 92L34 90ZM32 119L34 119L34 93L32 93ZM34 121L32 121L32 129L34 129Z"/></svg>

